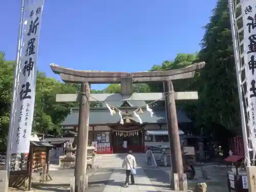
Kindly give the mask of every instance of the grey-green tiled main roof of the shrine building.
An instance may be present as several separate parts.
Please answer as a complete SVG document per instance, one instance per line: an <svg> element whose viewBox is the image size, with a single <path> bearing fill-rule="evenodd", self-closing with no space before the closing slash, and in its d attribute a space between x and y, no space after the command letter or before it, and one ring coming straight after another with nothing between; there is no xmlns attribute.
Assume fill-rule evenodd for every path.
<svg viewBox="0 0 256 192"><path fill-rule="evenodd" d="M127 111L132 112L135 109L127 108ZM121 109L121 110L125 111L123 109ZM158 110L154 110L153 112L154 112L153 117L151 117L150 113L148 113L146 111L143 114L139 114L139 116L143 122L166 123L165 110L163 110L161 108ZM79 117L79 111L72 110L71 114L69 114L61 124L63 126L77 125L78 117ZM177 109L177 118L178 118L178 123L191 122L191 120L188 119L186 114L180 109ZM120 117L119 117L118 113L116 113L115 115L111 115L109 110L106 108L100 108L100 109L94 108L94 109L90 110L89 124L102 124L103 125L103 124L108 124L108 123L117 123L117 122L119 122L119 120L120 120Z"/></svg>

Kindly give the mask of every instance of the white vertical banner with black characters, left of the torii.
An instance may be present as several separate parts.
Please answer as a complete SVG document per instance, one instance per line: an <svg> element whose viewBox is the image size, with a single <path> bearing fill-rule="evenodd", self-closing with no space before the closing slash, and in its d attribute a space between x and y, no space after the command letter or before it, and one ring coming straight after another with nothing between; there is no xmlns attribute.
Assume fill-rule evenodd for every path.
<svg viewBox="0 0 256 192"><path fill-rule="evenodd" d="M35 104L38 38L43 6L44 0L37 0L26 8L29 15L26 18L24 47L20 57L20 71L18 72L11 154L29 153Z"/></svg>

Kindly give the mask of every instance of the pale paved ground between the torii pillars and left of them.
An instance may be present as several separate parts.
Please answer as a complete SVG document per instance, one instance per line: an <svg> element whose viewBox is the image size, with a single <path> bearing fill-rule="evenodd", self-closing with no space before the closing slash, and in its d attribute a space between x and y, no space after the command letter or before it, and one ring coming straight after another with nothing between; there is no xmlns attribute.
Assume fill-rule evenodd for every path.
<svg viewBox="0 0 256 192"><path fill-rule="evenodd" d="M143 169L144 168L144 169ZM169 178L164 170L138 167L135 185L124 186L125 170L121 168L99 168L89 177L87 192L165 192L169 189ZM36 192L66 192L74 169L59 169L50 172L53 181L35 184ZM15 191L16 192L16 191Z"/></svg>

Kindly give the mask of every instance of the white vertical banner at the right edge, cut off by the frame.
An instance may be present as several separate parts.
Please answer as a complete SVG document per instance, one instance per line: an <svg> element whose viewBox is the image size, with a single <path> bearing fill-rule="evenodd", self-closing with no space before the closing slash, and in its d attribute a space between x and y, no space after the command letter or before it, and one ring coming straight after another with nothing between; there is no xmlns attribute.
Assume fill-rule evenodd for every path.
<svg viewBox="0 0 256 192"><path fill-rule="evenodd" d="M243 0L241 2L243 17L243 57L246 75L246 97L248 99L248 125L253 151L256 151L256 1Z"/></svg>

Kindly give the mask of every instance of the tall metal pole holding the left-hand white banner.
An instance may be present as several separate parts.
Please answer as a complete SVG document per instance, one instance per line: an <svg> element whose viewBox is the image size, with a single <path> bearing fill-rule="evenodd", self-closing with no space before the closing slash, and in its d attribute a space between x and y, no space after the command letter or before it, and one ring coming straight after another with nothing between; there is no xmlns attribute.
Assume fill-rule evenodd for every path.
<svg viewBox="0 0 256 192"><path fill-rule="evenodd" d="M20 69L20 52L22 48L22 36L23 36L23 25L24 25L24 17L25 17L25 0L22 0L22 5L20 8L20 19L19 19L19 29L18 29L18 44L17 44L17 53L16 53L16 62L15 62L15 72L14 72L14 83L12 87L12 104L11 104L11 113L10 113L10 123L9 123L9 133L8 133L8 146L6 152L6 164L5 170L8 172L8 180L10 174L10 160L11 160L11 139L13 135L13 124L15 117L15 104L16 104L16 94L17 94L17 81L18 81L18 72Z"/></svg>

